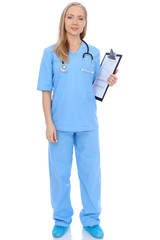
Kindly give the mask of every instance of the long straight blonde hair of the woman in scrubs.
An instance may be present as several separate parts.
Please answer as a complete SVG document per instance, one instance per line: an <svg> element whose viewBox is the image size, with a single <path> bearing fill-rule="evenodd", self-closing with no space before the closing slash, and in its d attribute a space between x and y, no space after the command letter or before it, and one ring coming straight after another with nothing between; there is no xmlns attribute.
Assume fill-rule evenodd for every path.
<svg viewBox="0 0 160 240"><path fill-rule="evenodd" d="M78 2L72 2L70 4L68 4L65 9L62 12L61 18L60 18L60 23L59 23L59 36L58 36L58 41L55 44L55 47L53 49L53 52L56 53L56 55L58 57L60 57L61 61L64 62L69 62L69 43L67 40L67 33L65 30L65 17L66 17L66 12L68 10L68 8L70 8L71 6L78 6L83 8L84 13L85 13L85 19L87 20L87 10L86 8ZM81 40L86 36L86 31L87 31L87 21L85 24L85 27L83 29L83 32L80 33L80 38Z"/></svg>

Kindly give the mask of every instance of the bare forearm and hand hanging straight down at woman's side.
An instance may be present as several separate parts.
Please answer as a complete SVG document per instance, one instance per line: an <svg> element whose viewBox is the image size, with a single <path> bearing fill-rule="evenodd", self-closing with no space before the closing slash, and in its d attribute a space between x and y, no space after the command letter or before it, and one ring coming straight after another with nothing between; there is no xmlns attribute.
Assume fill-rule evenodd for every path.
<svg viewBox="0 0 160 240"><path fill-rule="evenodd" d="M51 117L51 91L42 91L42 105L46 123L46 138L50 142L57 142L56 129Z"/></svg>

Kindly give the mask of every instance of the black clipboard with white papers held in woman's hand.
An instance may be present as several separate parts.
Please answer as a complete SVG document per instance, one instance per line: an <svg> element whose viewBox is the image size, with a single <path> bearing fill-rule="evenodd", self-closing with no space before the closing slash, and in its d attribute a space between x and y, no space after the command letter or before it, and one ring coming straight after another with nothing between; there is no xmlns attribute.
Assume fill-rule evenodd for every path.
<svg viewBox="0 0 160 240"><path fill-rule="evenodd" d="M109 84L107 82L108 77L111 74L114 74L120 61L122 55L116 54L111 49L110 53L106 52L103 60L100 64L100 70L98 72L97 77L93 81L93 90L95 94L95 98L99 101L103 101L105 94L108 90Z"/></svg>

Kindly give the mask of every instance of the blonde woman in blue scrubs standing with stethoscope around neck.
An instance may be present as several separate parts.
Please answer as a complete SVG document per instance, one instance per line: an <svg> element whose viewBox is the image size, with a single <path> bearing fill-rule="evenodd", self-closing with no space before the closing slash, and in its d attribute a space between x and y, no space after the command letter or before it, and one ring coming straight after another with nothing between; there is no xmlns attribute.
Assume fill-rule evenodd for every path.
<svg viewBox="0 0 160 240"><path fill-rule="evenodd" d="M83 41L86 30L86 8L77 2L67 5L61 15L58 41L44 49L38 77L48 140L54 237L65 234L74 213L70 200L73 147L83 205L81 223L93 237L104 235L99 219L99 125L92 87L100 68L100 52ZM88 50L92 56L85 54L83 58ZM110 86L116 81L115 74L108 79Z"/></svg>

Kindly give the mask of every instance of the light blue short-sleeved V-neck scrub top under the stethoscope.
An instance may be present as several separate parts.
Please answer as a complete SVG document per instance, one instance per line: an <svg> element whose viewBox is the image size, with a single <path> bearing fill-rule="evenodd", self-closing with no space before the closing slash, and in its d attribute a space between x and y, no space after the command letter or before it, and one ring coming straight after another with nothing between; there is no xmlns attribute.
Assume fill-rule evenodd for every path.
<svg viewBox="0 0 160 240"><path fill-rule="evenodd" d="M97 106L92 83L100 68L100 52L89 45L93 55L93 73L82 71L84 42L74 54L69 50L67 72L61 72L61 60L53 52L54 44L45 48L41 60L37 90L53 91L51 116L60 131L88 131L98 127ZM91 67L91 57L85 56L85 67Z"/></svg>

